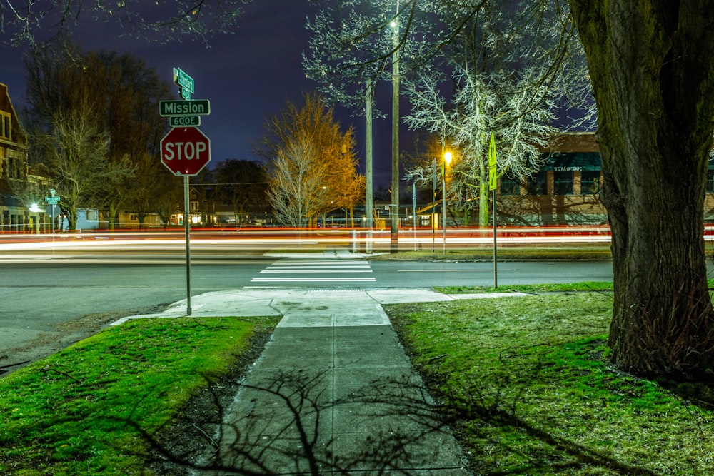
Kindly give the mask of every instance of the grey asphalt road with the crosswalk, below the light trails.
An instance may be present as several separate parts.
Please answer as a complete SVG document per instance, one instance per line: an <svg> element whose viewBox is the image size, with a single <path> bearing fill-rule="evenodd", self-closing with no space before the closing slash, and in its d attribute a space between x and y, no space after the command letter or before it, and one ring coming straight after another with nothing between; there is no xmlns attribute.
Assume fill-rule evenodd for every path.
<svg viewBox="0 0 714 476"><path fill-rule="evenodd" d="M191 295L247 287L429 288L493 280L488 262L197 255L191 265ZM498 263L500 287L585 280L612 280L610 261ZM124 315L156 312L185 299L187 278L180 254L58 254L0 259L0 283L1 373Z"/></svg>

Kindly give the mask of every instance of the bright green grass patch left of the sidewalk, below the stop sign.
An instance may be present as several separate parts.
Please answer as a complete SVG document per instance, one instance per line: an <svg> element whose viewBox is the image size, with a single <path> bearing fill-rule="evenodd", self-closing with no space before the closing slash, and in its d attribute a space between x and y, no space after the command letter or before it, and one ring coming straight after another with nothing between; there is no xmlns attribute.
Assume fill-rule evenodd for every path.
<svg viewBox="0 0 714 476"><path fill-rule="evenodd" d="M0 474L144 474L146 439L273 318L141 319L0 379Z"/></svg>

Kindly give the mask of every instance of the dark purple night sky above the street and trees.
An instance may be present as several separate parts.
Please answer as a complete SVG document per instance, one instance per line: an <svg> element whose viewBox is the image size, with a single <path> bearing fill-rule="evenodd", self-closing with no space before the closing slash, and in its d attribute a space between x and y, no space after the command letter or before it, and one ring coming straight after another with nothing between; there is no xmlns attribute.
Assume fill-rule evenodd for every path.
<svg viewBox="0 0 714 476"><path fill-rule="evenodd" d="M201 131L211 138L213 165L225 158L258 159L252 151L253 143L263 135L265 118L278 113L287 100L299 103L303 92L316 87L302 69L302 53L308 49L309 38L306 16L314 12L305 0L253 1L245 6L236 33L214 36L210 48L200 40L160 44L120 36L119 26L94 23L89 16L73 31L86 51L135 54L168 82L174 67L191 75L195 81L193 98L211 101L211 115L201 118ZM18 111L24 106L25 96L22 53L21 49L0 46L0 83L9 87ZM390 87L383 84L378 88L377 101L389 101ZM386 102L377 107L388 111L390 106ZM363 164L364 119L351 118L341 108L336 108L336 116L343 128L355 126L357 153ZM391 173L390 124L386 118L374 121L376 186L388 185ZM406 131L406 126L403 129Z"/></svg>

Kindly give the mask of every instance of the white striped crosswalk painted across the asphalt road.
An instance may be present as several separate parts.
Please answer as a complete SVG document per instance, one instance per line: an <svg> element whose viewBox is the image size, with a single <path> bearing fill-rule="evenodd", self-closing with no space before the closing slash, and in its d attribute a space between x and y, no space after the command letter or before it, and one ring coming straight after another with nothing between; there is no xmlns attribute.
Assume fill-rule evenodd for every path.
<svg viewBox="0 0 714 476"><path fill-rule="evenodd" d="M251 283L373 283L367 260L298 260L287 258L261 270Z"/></svg>

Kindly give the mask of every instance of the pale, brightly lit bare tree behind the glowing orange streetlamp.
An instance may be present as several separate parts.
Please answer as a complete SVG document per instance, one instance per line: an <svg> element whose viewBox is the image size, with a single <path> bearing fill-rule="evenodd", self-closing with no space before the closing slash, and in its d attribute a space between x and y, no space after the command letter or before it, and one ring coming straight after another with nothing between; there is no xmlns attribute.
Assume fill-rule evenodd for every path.
<svg viewBox="0 0 714 476"><path fill-rule="evenodd" d="M460 205L476 203L478 199L479 226L488 225L488 146L494 133L500 147L498 174L509 172L520 178L535 171L542 163L538 146L545 146L552 127L548 108L528 107L528 81L516 85L513 95L502 101L498 91L481 75L456 69L456 80L461 88L453 98L455 106L448 108L441 97L438 83L423 76L410 90L414 109L406 122L413 128L426 127L439 134L443 148L454 153L453 166L448 170L449 195L463 198ZM491 78L496 80L496 78ZM499 79L505 81L507 79ZM496 80L498 82L498 80ZM441 154L439 154L441 157ZM441 159L440 159L441 160ZM441 166L441 164L440 164ZM426 163L406 173L408 180L422 185L433 180L432 164Z"/></svg>

